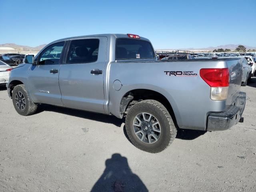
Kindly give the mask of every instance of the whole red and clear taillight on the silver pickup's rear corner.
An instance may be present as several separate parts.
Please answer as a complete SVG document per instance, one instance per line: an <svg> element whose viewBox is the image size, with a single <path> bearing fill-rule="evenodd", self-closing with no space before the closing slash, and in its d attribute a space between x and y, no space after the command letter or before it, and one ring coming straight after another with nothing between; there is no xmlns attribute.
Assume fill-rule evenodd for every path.
<svg viewBox="0 0 256 192"><path fill-rule="evenodd" d="M200 77L211 87L212 100L226 100L229 86L228 68L200 69Z"/></svg>

